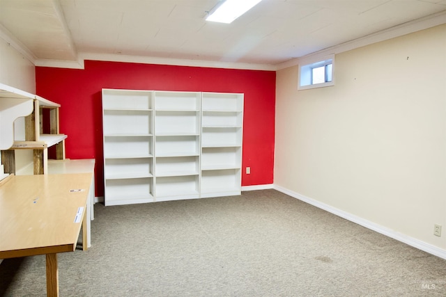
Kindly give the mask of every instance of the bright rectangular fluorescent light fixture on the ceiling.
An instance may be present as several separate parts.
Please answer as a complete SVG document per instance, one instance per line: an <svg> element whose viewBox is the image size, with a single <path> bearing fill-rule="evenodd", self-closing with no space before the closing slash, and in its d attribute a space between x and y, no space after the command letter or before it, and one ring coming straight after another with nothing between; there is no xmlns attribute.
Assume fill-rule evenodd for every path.
<svg viewBox="0 0 446 297"><path fill-rule="evenodd" d="M246 13L261 0L226 0L210 10L206 21L230 24L234 19Z"/></svg>

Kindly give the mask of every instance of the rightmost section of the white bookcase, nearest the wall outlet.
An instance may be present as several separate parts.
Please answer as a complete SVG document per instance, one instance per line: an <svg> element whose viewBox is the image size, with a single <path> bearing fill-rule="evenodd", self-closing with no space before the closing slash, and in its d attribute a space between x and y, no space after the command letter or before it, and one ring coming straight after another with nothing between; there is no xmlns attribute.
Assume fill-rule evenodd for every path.
<svg viewBox="0 0 446 297"><path fill-rule="evenodd" d="M241 192L243 94L203 93L201 197Z"/></svg>

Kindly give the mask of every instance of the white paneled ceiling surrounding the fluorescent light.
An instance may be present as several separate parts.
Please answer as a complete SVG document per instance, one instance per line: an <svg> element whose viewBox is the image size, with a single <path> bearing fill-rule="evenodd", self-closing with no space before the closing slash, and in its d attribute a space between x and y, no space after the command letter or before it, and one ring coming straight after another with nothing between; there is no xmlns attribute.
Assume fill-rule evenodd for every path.
<svg viewBox="0 0 446 297"><path fill-rule="evenodd" d="M433 14L446 23L446 0L263 0L232 24L206 22L218 1L0 0L0 29L36 60L93 53L277 65Z"/></svg>

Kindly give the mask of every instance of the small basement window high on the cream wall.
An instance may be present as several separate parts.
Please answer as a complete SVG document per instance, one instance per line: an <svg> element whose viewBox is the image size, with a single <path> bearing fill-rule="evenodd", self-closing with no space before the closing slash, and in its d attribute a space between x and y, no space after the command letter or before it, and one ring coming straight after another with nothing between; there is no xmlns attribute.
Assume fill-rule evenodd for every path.
<svg viewBox="0 0 446 297"><path fill-rule="evenodd" d="M334 56L331 56L323 61L299 66L298 90L334 86L333 61Z"/></svg>

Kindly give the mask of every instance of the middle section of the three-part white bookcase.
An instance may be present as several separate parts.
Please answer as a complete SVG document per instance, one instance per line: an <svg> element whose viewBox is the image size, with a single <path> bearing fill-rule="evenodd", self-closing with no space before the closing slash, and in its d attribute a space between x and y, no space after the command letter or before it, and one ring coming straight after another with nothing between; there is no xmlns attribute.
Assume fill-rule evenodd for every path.
<svg viewBox="0 0 446 297"><path fill-rule="evenodd" d="M199 198L201 94L155 91L156 200Z"/></svg>

